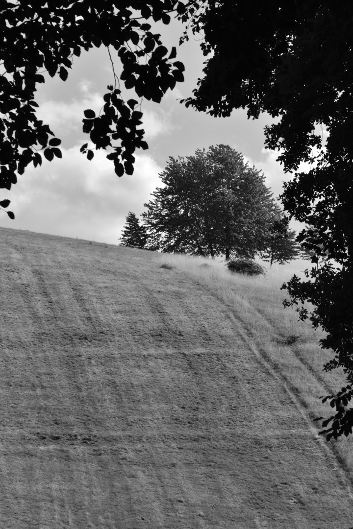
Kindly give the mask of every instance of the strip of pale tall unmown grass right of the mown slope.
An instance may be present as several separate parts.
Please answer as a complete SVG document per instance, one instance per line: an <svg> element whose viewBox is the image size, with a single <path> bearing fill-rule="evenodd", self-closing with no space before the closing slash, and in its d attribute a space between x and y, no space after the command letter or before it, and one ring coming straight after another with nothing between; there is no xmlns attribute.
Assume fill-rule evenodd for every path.
<svg viewBox="0 0 353 529"><path fill-rule="evenodd" d="M311 263L294 261L271 268L261 263L267 269L266 275L249 277L231 273L221 260L180 254L159 254L158 259L209 290L242 322L248 331L249 344L252 342L254 349L263 352L298 396L312 427L321 429L321 422L313 419L330 417L332 408L322 404L320 396L338 391L347 379L340 368L323 370L324 364L333 358L331 350L320 346L323 330L313 329L309 320L300 321L294 308L285 308L283 299L288 295L286 290L280 290L294 273L304 277L303 271ZM353 478L353 435L330 444L338 450Z"/></svg>

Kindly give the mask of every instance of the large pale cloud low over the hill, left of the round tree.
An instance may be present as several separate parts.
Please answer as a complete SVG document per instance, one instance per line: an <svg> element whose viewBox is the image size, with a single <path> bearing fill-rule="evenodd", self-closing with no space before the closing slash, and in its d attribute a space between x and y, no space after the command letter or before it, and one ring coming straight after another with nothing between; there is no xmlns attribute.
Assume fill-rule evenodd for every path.
<svg viewBox="0 0 353 529"><path fill-rule="evenodd" d="M62 156L29 167L10 193L2 193L11 199L15 221L3 214L0 225L119 244L126 215L142 213L162 168L137 154L134 174L119 178L103 151L90 162L78 147L63 149Z"/></svg>

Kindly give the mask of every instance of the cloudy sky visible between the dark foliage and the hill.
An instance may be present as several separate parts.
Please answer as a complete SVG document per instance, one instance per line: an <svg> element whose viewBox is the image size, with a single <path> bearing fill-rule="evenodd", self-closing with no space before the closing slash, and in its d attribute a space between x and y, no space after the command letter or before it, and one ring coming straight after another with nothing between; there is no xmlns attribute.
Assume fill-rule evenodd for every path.
<svg viewBox="0 0 353 529"><path fill-rule="evenodd" d="M178 47L182 32L174 23L158 31L170 49ZM192 95L204 60L200 43L191 36L177 48L178 60L185 65L185 83L168 91L160 105L143 102L143 128L149 150L137 151L132 176L118 178L107 152L95 152L92 161L79 152L89 139L82 132L83 111L92 108L99 113L106 87L114 84L111 63L104 47L82 51L75 57L73 69L64 83L59 77L46 77L37 85L38 114L62 140L62 159L41 167L29 166L11 191L1 191L1 198L11 199L15 220L0 212L0 226L21 230L65 235L79 239L119 244L121 230L129 211L140 215L143 204L160 186L159 173L169 156L189 156L197 148L228 144L241 152L250 165L264 171L267 186L277 197L282 183L288 179L279 163L278 154L264 149L264 126L268 116L247 120L246 111L234 111L229 118L214 118L186 109L178 98ZM114 52L114 50L112 50ZM119 59L112 54L116 66Z"/></svg>

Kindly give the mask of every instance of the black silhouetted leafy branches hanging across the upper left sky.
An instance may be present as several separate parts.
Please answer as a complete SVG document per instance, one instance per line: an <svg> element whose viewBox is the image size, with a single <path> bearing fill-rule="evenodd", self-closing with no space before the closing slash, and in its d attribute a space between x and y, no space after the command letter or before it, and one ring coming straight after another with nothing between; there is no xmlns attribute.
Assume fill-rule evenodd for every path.
<svg viewBox="0 0 353 529"><path fill-rule="evenodd" d="M61 158L60 140L49 140L54 136L50 125L36 115L34 93L37 84L45 81L44 71L66 81L74 56L103 44L116 50L125 88L134 89L140 99L159 103L168 88L184 80L184 65L174 60L176 48L168 51L146 21L168 24L171 13L185 17L193 10L192 4L179 0L2 0L0 61L5 72L0 76L0 188L11 189L17 174L22 175L31 162L34 167L41 165L41 152L49 161ZM116 76L114 80L115 86L108 86L104 95L101 114L85 112L83 131L96 149L110 148L107 158L122 176L133 172L135 149L148 145L143 129L138 129L142 124L138 102L123 101L116 88L119 80ZM91 160L93 151L87 145L81 151Z"/></svg>

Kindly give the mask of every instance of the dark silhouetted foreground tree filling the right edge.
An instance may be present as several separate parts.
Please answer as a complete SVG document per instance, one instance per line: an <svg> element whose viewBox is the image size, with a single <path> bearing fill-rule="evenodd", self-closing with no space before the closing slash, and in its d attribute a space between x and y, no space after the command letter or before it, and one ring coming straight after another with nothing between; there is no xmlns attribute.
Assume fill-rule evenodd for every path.
<svg viewBox="0 0 353 529"><path fill-rule="evenodd" d="M209 0L191 21L202 31L204 77L185 103L214 116L247 108L257 118L276 121L265 128L266 147L294 178L282 201L290 216L313 226L311 238L320 267L304 281L284 287L302 319L310 318L327 336L321 340L349 384L329 400L335 409L323 427L327 439L352 433L353 413L353 5L348 0ZM251 28L251 31L249 31ZM241 52L237 53L237 50ZM327 133L324 139L323 133ZM299 170L307 162L306 170ZM315 258L314 258L315 259ZM302 303L309 301L309 314ZM299 306L297 304L299 303Z"/></svg>

